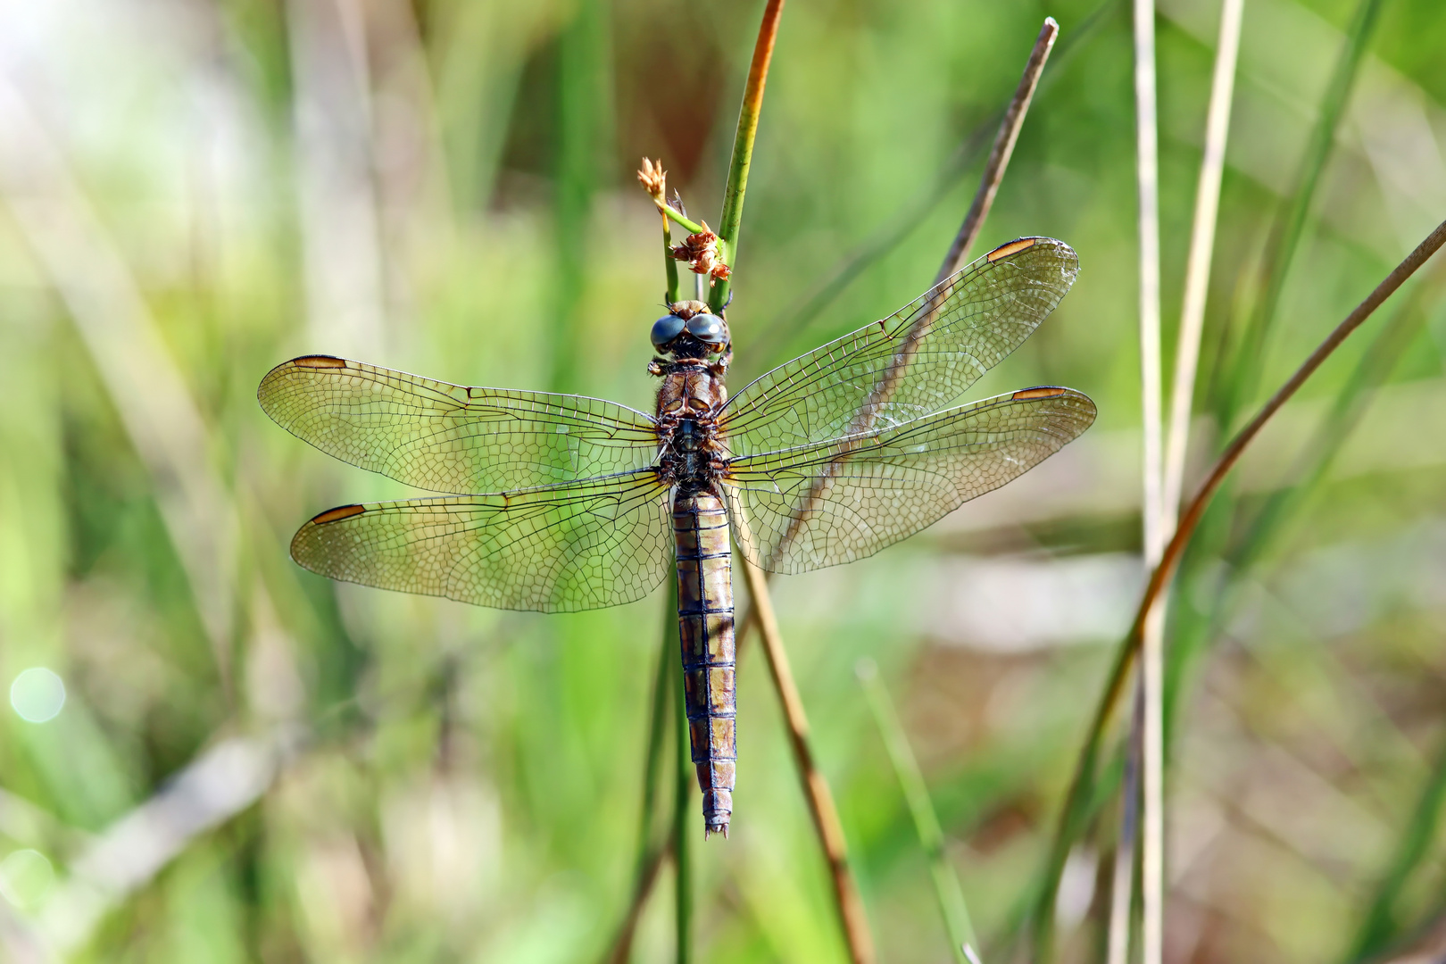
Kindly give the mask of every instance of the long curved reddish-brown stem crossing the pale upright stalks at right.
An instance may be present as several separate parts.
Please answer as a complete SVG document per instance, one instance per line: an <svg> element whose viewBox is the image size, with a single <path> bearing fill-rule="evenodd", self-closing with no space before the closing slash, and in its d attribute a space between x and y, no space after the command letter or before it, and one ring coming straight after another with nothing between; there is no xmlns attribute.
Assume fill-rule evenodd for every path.
<svg viewBox="0 0 1446 964"><path fill-rule="evenodd" d="M1124 692L1125 678L1129 668L1134 665L1135 656L1139 652L1141 636L1144 629L1145 616L1150 608L1155 604L1160 595L1164 593L1174 575L1176 567L1180 564L1180 556L1184 554L1186 546L1190 542L1190 536L1194 535L1196 528L1200 525L1200 519L1205 515L1206 507L1210 504L1210 499L1219 490L1220 483L1241 460L1241 455L1249 448L1259 431L1274 418L1275 412L1281 409L1300 390L1300 386L1310 379L1312 374L1329 358L1336 348L1340 347L1351 332L1361 327L1366 318L1369 318L1381 304L1390 298L1411 275L1420 269L1421 264L1436 253L1437 249L1446 244L1446 223L1442 223L1432 231L1426 240L1423 240L1414 251L1411 251L1406 260L1395 266L1395 269L1385 276L1385 279L1377 285L1375 291L1366 296L1355 309L1346 315L1346 318L1336 325L1336 328L1326 337L1320 345L1316 347L1310 357L1307 357L1294 374L1283 384L1275 395L1261 408L1261 410L1251 419L1251 422L1231 439L1231 444L1225 448L1220 457L1216 460L1210 473L1206 475L1205 483L1200 486L1194 499L1186 507L1180 517L1180 526L1174 536L1165 545L1165 551L1160 559L1160 565L1154 568L1150 574L1150 581L1145 585L1145 591L1141 597L1139 607L1135 611L1134 624L1129 633L1121 643L1119 652L1115 658L1115 665L1111 668L1108 681L1105 682L1105 689L1100 694L1099 704L1095 708L1095 717L1090 721L1089 734L1084 739L1084 746L1080 750L1080 757L1074 767L1074 776L1070 783L1069 795L1064 799L1064 806L1060 811L1060 824L1056 830L1054 843L1050 848L1048 864L1045 867L1045 882L1040 887L1040 899L1035 905L1035 960L1043 963L1050 960L1053 935L1051 935L1051 915L1054 909L1054 896L1058 890L1060 870L1064 867L1064 857L1069 854L1070 847L1074 843L1077 830L1080 825L1080 815L1087 812L1092 805L1093 796L1093 769L1095 760L1099 757L1099 744L1105 733L1105 727L1109 718L1113 715L1115 707Z"/></svg>

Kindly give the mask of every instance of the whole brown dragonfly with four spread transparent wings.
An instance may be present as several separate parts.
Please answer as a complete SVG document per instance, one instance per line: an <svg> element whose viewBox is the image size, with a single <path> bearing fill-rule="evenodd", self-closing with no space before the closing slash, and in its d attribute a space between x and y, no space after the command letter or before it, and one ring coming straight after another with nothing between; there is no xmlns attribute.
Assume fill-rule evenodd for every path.
<svg viewBox="0 0 1446 964"><path fill-rule="evenodd" d="M766 572L873 555L1004 486L1095 421L1080 392L959 397L1069 292L1074 251L1004 244L895 314L749 382L724 376L723 312L652 325L654 413L576 395L464 387L331 356L257 397L346 462L442 493L328 509L291 542L334 580L564 613L632 603L674 572L704 835L727 834L737 762L732 545Z"/></svg>

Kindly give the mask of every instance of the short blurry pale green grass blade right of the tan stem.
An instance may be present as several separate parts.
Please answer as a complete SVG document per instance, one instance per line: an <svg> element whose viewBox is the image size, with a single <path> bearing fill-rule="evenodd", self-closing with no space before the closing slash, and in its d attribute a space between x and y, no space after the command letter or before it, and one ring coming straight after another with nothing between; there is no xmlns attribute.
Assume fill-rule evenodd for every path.
<svg viewBox="0 0 1446 964"><path fill-rule="evenodd" d="M863 684L863 694L873 710L873 720L879 726L879 736L894 763L894 773L898 776L899 789L908 802L910 815L914 818L914 831L918 843L928 857L930 873L934 877L934 896L938 899L938 912L944 918L944 929L949 932L950 950L957 964L979 964L979 938L975 935L975 925L969 918L969 905L964 903L964 890L959 885L959 876L949 863L944 851L944 831L938 825L938 815L934 804L928 798L928 786L924 783L924 773L918 769L918 759L908 744L908 736L899 723L889 691L879 679L878 666L872 659L860 659L855 668L859 682Z"/></svg>

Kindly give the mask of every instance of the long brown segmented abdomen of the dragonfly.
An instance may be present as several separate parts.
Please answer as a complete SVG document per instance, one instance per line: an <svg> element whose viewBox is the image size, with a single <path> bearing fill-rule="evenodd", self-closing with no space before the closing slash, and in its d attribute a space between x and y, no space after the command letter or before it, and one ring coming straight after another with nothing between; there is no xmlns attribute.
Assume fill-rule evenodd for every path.
<svg viewBox="0 0 1446 964"><path fill-rule="evenodd" d="M703 791L704 834L727 835L737 760L733 698L733 581L727 510L709 491L672 502L678 543L678 636L693 765Z"/></svg>

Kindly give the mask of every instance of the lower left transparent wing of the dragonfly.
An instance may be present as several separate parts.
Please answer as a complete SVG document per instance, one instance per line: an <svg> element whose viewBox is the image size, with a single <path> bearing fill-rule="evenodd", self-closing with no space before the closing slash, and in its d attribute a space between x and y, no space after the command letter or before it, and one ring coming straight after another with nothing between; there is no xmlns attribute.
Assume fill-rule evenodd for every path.
<svg viewBox="0 0 1446 964"><path fill-rule="evenodd" d="M568 613L639 600L672 567L668 487L651 470L564 486L341 506L291 558L333 580L496 608Z"/></svg>

